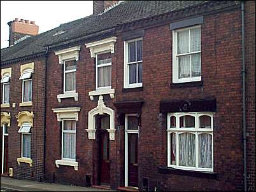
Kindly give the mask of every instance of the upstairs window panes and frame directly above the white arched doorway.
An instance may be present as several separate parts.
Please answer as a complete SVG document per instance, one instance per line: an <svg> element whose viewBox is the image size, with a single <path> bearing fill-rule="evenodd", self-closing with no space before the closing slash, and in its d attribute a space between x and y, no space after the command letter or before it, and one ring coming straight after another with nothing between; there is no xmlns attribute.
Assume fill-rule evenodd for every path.
<svg viewBox="0 0 256 192"><path fill-rule="evenodd" d="M111 88L111 53L96 55L96 89Z"/></svg>

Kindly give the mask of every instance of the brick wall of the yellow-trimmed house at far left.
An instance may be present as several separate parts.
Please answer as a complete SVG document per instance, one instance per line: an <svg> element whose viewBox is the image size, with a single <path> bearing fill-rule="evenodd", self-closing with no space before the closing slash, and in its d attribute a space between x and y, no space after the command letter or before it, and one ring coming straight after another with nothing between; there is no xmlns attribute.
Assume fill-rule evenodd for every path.
<svg viewBox="0 0 256 192"><path fill-rule="evenodd" d="M32 74L32 106L20 107L22 100L22 80L20 78L20 65L34 62ZM1 108L1 112L11 113L11 125L8 135L8 169L13 167L13 177L18 179L43 179L44 167L44 113L45 113L45 62L44 58L38 58L27 62L18 62L10 65L1 65L1 69L11 67L10 78L10 107ZM3 85L1 83L1 100L3 98ZM16 103L16 107L11 107ZM15 117L20 111L33 111L34 121L31 128L31 159L32 167L27 163L18 165L17 158L21 156L21 134L18 133L18 122ZM1 132L3 130L1 129ZM2 137L1 137L2 141ZM2 148L1 148L2 152ZM2 153L1 153L2 154ZM1 161L2 163L2 161Z"/></svg>

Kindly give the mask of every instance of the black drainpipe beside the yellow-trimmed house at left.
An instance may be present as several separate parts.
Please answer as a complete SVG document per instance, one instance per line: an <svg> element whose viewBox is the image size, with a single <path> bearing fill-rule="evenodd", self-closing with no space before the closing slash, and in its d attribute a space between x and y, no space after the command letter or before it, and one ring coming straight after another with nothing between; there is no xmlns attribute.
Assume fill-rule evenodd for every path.
<svg viewBox="0 0 256 192"><path fill-rule="evenodd" d="M47 46L46 51L45 51L45 111L44 111L44 130L43 130L43 141L44 141L44 147L43 147L43 175L44 175L44 180L46 180L46 175L45 175L45 161L46 161L46 94L47 94L47 84L46 84L46 75L47 75L47 63L48 63L48 52L49 52L49 46Z"/></svg>

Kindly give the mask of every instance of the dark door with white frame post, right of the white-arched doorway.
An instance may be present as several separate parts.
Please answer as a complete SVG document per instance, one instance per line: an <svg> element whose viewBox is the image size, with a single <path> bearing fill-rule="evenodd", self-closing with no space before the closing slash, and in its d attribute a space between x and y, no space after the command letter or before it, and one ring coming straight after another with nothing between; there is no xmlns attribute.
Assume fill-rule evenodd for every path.
<svg viewBox="0 0 256 192"><path fill-rule="evenodd" d="M138 134L128 134L128 185L138 186Z"/></svg>

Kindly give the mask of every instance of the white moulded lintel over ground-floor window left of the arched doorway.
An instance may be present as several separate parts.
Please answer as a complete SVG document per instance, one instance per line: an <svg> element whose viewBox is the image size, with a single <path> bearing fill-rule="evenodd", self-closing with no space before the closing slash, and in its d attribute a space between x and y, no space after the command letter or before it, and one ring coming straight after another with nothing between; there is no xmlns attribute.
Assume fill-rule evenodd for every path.
<svg viewBox="0 0 256 192"><path fill-rule="evenodd" d="M81 107L66 107L66 108L54 108L53 113L57 115L57 121L62 121L62 119L73 118L78 121L78 113Z"/></svg>

